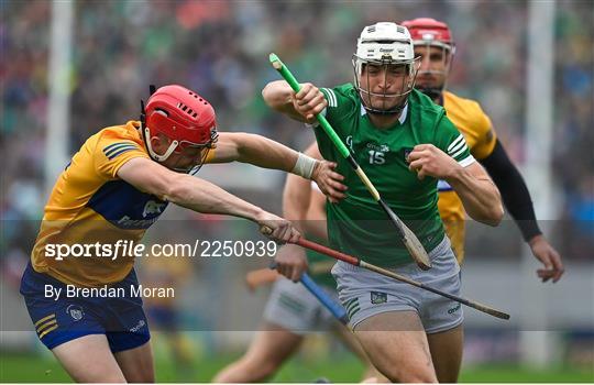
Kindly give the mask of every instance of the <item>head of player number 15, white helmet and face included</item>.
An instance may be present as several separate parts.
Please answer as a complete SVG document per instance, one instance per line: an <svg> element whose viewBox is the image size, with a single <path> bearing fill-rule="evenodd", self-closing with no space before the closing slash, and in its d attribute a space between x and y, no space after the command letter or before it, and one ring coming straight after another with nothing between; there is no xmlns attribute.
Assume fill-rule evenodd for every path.
<svg viewBox="0 0 594 385"><path fill-rule="evenodd" d="M373 74L370 75L370 69ZM353 55L354 84L370 113L400 113L415 87L417 61L406 28L382 22L365 26ZM370 88L371 77L383 76L381 91ZM364 81L362 81L364 80ZM366 88L362 84L366 85ZM378 100L378 102L377 102Z"/></svg>

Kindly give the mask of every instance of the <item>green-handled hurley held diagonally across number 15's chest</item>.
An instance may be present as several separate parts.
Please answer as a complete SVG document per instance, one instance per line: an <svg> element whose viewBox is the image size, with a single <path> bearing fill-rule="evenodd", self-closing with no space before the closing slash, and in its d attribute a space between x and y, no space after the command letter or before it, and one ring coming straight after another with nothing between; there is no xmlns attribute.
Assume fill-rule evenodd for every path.
<svg viewBox="0 0 594 385"><path fill-rule="evenodd" d="M293 74L288 70L288 68L280 62L278 56L275 54L271 54L270 56L271 64L273 67L283 76L283 78L289 84L290 88L295 92L298 92L301 88L297 79L293 76ZM328 134L332 143L337 146L339 153L349 162L349 164L353 167L356 175L359 175L359 178L363 182L367 190L371 193L373 199L382 207L382 209L386 212L391 221L396 226L396 229L398 229L398 233L400 235L400 240L405 244L406 249L413 256L413 260L417 263L417 265L422 270L429 270L431 267L431 261L429 261L429 255L427 255L427 251L425 251L425 248L417 239L417 235L396 216L396 213L387 206L387 204L382 199L380 196L380 193L373 186L370 178L365 175L361 166L356 163L354 157L349 152L349 148L342 143L340 138L337 135L330 123L328 123L328 120L326 120L326 117L322 114L317 114L316 119L321 124L323 131Z"/></svg>

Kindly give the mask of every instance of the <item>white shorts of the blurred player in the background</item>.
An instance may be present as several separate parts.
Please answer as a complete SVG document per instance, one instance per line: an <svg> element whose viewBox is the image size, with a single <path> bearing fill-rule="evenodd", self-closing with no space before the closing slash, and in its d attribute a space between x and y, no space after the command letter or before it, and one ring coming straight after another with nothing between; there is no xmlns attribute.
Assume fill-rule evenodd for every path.
<svg viewBox="0 0 594 385"><path fill-rule="evenodd" d="M337 292L321 286L333 299ZM337 324L332 314L300 283L279 277L264 309L264 320L283 327L295 334L324 331Z"/></svg>

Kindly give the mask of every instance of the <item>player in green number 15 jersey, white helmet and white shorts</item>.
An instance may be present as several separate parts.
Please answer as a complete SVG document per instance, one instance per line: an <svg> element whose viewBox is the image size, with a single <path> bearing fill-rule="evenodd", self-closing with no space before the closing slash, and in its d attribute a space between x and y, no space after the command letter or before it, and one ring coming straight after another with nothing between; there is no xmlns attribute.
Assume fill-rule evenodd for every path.
<svg viewBox="0 0 594 385"><path fill-rule="evenodd" d="M323 113L388 206L417 234L432 268L420 271L396 229L330 139L316 128L319 150L338 164L345 198L327 205L332 248L453 295L460 267L438 212L437 183L447 180L475 220L496 226L499 193L469 152L442 107L414 89L418 61L408 30L395 23L363 29L353 56L354 84L319 89L268 84L266 103L296 120ZM296 280L302 254L277 257ZM372 363L393 382L455 382L462 360L460 304L339 262L332 270L351 327Z"/></svg>

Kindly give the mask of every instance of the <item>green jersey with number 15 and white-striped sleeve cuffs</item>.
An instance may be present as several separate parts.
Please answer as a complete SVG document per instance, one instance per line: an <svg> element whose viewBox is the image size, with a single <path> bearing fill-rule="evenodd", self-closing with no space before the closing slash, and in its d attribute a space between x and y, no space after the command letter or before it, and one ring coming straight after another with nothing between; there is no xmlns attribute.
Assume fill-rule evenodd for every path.
<svg viewBox="0 0 594 385"><path fill-rule="evenodd" d="M437 206L438 179L419 180L417 173L408 169L408 154L417 144L429 143L468 166L474 158L464 136L442 107L417 90L409 94L400 119L387 129L373 125L352 84L321 91L328 100L324 113L330 125L386 204L415 232L427 252L433 250L446 237ZM316 138L321 154L338 164L337 170L349 187L346 198L326 205L330 245L382 266L413 262L395 226L321 127L316 128Z"/></svg>

